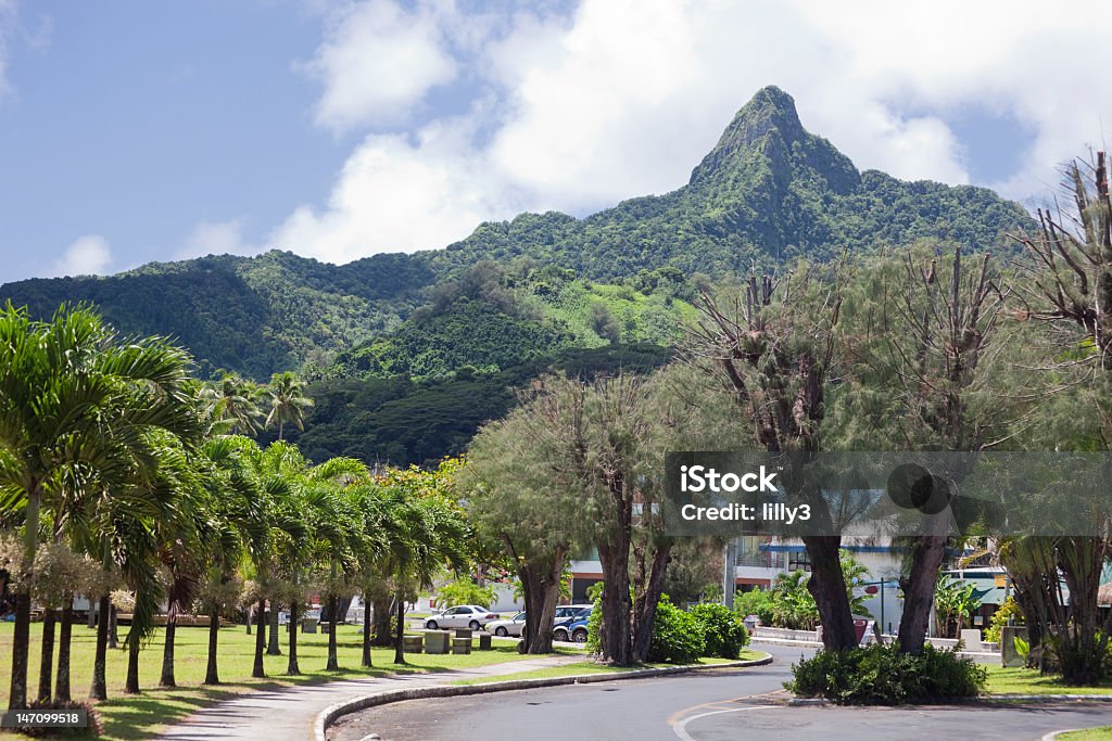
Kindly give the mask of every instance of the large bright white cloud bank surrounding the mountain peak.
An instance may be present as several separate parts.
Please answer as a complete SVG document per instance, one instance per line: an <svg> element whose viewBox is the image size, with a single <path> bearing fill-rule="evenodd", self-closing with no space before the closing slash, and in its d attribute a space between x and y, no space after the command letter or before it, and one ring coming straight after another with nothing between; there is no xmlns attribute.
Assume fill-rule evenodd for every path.
<svg viewBox="0 0 1112 741"><path fill-rule="evenodd" d="M327 202L297 209L275 240L347 261L444 247L523 209L583 213L673 190L766 84L858 167L904 179L969 182L947 119L1013 118L1034 140L996 184L1024 199L1100 136L1112 100L1100 71L1112 47L1092 21L1103 12L1096 0L1061 13L1033 0L1006 12L966 0L583 0L564 16L492 20L450 2L353 6L314 62L317 119L367 136ZM407 123L433 88L461 78L479 97L468 114Z"/></svg>

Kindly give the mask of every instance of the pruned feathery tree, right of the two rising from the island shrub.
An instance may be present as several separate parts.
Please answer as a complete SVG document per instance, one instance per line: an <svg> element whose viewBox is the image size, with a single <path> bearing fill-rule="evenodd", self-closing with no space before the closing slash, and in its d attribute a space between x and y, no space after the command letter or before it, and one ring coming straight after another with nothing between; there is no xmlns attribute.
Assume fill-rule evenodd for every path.
<svg viewBox="0 0 1112 741"><path fill-rule="evenodd" d="M832 425L841 445L973 452L1009 437L1014 404L992 382L1007 290L991 253L965 257L954 247L940 260L940 252L925 246L860 271L841 328L847 382ZM856 430L847 429L851 418ZM935 473L952 487L962 469ZM924 514L922 525L923 534L903 539L898 641L907 653L923 649L949 510Z"/></svg>

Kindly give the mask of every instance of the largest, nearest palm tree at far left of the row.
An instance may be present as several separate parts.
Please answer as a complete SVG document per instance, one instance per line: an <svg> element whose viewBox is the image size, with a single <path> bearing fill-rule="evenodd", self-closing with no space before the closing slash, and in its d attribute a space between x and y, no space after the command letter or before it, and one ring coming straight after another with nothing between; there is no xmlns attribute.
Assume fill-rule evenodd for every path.
<svg viewBox="0 0 1112 741"><path fill-rule="evenodd" d="M157 339L123 342L87 307L49 322L10 303L0 310L0 491L23 513L23 557L33 563L44 510L66 518L77 484L149 477L150 432L188 439L188 354ZM30 591L17 590L9 707L27 707Z"/></svg>

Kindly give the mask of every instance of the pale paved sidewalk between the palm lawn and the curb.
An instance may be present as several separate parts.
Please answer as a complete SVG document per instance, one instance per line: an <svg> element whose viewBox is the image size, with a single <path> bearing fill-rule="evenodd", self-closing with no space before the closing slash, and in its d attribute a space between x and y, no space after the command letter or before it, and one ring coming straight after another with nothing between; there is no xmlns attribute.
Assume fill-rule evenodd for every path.
<svg viewBox="0 0 1112 741"><path fill-rule="evenodd" d="M251 692L199 710L182 722L168 728L158 738L177 741L312 739L312 723L321 710L367 692L450 684L460 679L516 674L583 660L582 655L560 654L458 671L368 677Z"/></svg>

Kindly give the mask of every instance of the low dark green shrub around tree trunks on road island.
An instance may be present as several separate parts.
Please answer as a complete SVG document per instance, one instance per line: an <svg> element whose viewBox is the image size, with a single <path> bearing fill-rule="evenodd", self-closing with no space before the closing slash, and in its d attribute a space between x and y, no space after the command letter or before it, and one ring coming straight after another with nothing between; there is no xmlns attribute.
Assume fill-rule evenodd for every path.
<svg viewBox="0 0 1112 741"><path fill-rule="evenodd" d="M900 653L897 643L844 651L820 651L792 665L794 680L784 687L805 698L838 704L898 705L976 697L987 671L954 651L923 647L919 654Z"/></svg>

